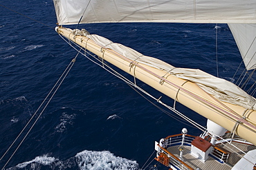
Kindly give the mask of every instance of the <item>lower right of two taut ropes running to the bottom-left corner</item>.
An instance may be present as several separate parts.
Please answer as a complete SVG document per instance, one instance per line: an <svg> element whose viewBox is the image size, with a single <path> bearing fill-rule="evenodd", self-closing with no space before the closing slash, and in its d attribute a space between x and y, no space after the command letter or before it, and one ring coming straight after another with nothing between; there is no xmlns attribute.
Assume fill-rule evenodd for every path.
<svg viewBox="0 0 256 170"><path fill-rule="evenodd" d="M30 133L30 131L33 129L33 127L35 126L35 123L37 123L37 120L40 118L40 116L42 115L42 113L44 112L44 110L46 109L46 107L48 106L48 104L51 102L53 96L56 94L57 90L60 88L60 85L62 85L64 79L66 78L66 76L68 75L68 73L70 72L71 68L73 67L74 63L75 63L75 59L77 58L79 53L77 53L77 55L75 56L75 58L71 61L71 63L68 65L70 66L68 68L68 71L66 72L66 74L64 75L64 77L62 78L62 81L60 82L60 84L57 86L57 88L55 89L55 91L53 92L51 98L48 100L48 102L46 103L46 105L44 106L44 109L41 111L41 113L39 114L39 116L37 117L37 119L35 120L35 122L33 123L33 125L30 127L30 129L28 130L28 132L26 133L26 135L24 136L24 138L21 140L21 142L19 142L18 147L15 149L15 151L12 153L12 155L10 156L10 158L8 159L8 161L6 162L6 164L3 166L3 169L6 167L6 165L8 164L8 162L10 162L12 156L15 155L16 151L19 149L19 147L21 146L21 144L24 142L24 140L26 139L26 137L28 136L28 134ZM65 70L66 71L66 70ZM62 74L63 75L63 74ZM60 78L59 78L60 80ZM58 80L58 81L59 81Z"/></svg>

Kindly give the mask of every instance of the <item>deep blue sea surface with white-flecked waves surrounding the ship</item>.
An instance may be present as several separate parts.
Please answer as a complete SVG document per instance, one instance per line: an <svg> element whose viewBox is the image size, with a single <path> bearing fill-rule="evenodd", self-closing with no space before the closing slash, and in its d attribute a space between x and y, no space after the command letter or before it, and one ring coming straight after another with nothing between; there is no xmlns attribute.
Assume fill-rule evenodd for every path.
<svg viewBox="0 0 256 170"><path fill-rule="evenodd" d="M54 30L57 20L53 1L1 0L0 5L0 156L3 156L77 52ZM216 76L215 26L100 23L78 28L176 67L201 69ZM219 77L235 81L232 76L241 63L239 50L228 25L218 26ZM145 83L138 85L156 98L163 96ZM169 105L174 103L166 96L163 100ZM182 105L176 109L206 125L205 118L190 109ZM183 127L188 134L201 133L163 113L125 82L79 55L6 169L142 169L154 151L154 141L179 134ZM21 138L0 161L0 168ZM147 169L166 168L154 160Z"/></svg>

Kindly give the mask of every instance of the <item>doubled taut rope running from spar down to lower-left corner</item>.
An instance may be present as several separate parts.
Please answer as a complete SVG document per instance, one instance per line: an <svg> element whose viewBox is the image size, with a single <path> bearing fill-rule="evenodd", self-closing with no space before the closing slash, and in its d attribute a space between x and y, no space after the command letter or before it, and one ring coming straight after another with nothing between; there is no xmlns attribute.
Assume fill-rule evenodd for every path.
<svg viewBox="0 0 256 170"><path fill-rule="evenodd" d="M53 86L53 88L51 89L51 91L48 93L48 95L46 96L46 98L44 98L44 101L41 103L41 105L37 108L37 111L39 111L39 109L42 107L42 105L45 103L45 101L47 100L48 96L50 96L51 92L53 92L53 89L55 89L55 87L57 86L57 84L59 83L59 85L57 86L57 88L55 89L55 91L53 92L51 98L49 98L48 102L46 103L46 105L44 106L44 108L42 109L41 113L39 114L39 116L37 117L37 119L35 120L35 122L33 123L33 125L30 127L30 129L28 130L28 132L26 133L26 135L24 136L24 138L21 140L21 142L19 142L18 147L15 149L15 151L12 153L12 155L10 156L10 158L8 159L8 161L6 162L6 164L3 166L2 169L4 169L6 167L6 165L8 164L8 162L10 162L12 156L15 155L16 151L19 149L19 147L21 146L21 144L24 142L24 140L26 139L26 137L28 136L28 134L30 133L30 131L33 129L33 127L35 126L35 123L37 123L37 120L40 118L40 116L42 115L42 113L44 112L44 110L46 109L46 107L48 106L48 104L51 102L53 96L56 94L57 90L60 88L60 85L62 85L64 79L66 78L66 76L68 75L68 73L70 72L71 68L73 67L74 63L75 63L75 59L77 58L79 53L77 53L77 55L75 56L75 58L71 61L71 63L68 64L68 66L66 67L66 70L64 70L64 72L62 73L62 76L60 76L60 78L57 80L57 82L55 83L55 85ZM64 75L65 74L65 75ZM63 77L64 76L64 77ZM62 78L63 77L63 78ZM62 79L62 81L60 81ZM21 130L21 132L19 133L19 135L17 136L17 138L15 138L15 140L12 142L12 145L15 144L15 142L17 141L17 139L19 138L19 136L21 136L21 134L23 133L23 131L26 129L26 127L30 124L30 121L35 117L35 115L37 114L37 111L35 111L35 113L33 114L33 116L30 118L30 120L28 121L28 123L26 124L26 126ZM3 156L1 157L1 159L6 156L6 153L8 153L8 151L10 150L10 148L12 147L12 145L10 145L10 147L7 149L7 151L3 154Z"/></svg>

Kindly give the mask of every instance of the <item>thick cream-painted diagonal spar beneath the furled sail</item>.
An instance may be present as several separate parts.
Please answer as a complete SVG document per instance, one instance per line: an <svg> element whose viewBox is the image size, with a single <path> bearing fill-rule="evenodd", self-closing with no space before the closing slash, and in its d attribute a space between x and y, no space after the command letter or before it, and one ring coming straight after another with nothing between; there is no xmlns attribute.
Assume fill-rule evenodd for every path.
<svg viewBox="0 0 256 170"><path fill-rule="evenodd" d="M201 89L196 83L177 78L164 70L138 63L136 60L128 59L106 45L99 44L86 36L76 35L75 30L57 27L56 31L98 55L102 60L116 65L131 76L140 79L159 92L179 101L198 114L256 145L255 110L218 100Z"/></svg>

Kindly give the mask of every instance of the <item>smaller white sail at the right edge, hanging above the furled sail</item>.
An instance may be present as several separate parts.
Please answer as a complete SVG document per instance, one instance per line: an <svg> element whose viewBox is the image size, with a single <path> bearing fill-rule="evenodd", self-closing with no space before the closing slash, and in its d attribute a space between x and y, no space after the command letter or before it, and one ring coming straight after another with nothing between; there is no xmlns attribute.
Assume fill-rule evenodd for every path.
<svg viewBox="0 0 256 170"><path fill-rule="evenodd" d="M228 24L247 70L256 68L256 24Z"/></svg>

